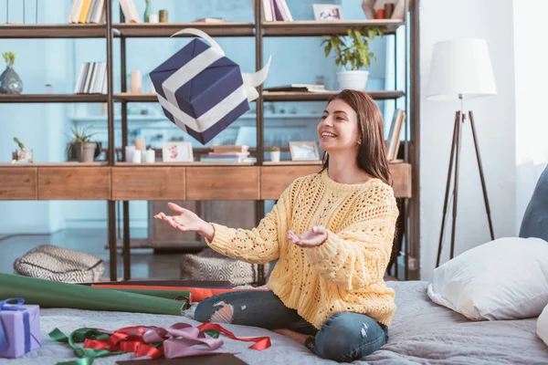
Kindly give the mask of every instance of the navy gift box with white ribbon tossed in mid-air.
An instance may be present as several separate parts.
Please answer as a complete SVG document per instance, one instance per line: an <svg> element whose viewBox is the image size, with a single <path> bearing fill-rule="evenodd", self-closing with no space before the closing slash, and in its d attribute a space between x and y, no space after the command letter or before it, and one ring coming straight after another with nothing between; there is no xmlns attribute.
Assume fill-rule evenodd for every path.
<svg viewBox="0 0 548 365"><path fill-rule="evenodd" d="M242 73L216 41L189 28L174 34L193 39L155 68L150 77L165 116L197 141L211 141L249 110L258 98L255 89L269 73L270 60L256 73Z"/></svg>

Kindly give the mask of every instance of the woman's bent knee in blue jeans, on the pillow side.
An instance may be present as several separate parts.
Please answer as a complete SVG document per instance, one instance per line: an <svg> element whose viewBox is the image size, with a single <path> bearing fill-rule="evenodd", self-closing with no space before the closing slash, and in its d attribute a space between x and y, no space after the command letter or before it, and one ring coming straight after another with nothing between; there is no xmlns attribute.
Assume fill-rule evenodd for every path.
<svg viewBox="0 0 548 365"><path fill-rule="evenodd" d="M324 359L353 361L370 355L386 343L386 333L362 314L338 313L328 318L316 335L314 352Z"/></svg>

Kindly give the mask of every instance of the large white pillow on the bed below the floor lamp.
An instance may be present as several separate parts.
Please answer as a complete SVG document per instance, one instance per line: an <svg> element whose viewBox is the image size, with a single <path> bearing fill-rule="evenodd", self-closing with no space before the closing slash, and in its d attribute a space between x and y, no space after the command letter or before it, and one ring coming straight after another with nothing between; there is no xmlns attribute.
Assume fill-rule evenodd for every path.
<svg viewBox="0 0 548 365"><path fill-rule="evenodd" d="M507 237L471 248L434 271L428 297L470 319L518 319L548 305L548 243Z"/></svg>

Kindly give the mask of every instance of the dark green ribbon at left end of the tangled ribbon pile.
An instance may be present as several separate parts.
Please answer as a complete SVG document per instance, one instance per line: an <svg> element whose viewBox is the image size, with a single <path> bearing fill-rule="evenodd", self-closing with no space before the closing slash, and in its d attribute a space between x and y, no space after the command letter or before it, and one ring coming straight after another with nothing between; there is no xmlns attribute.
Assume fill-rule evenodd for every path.
<svg viewBox="0 0 548 365"><path fill-rule="evenodd" d="M109 339L111 336L106 333L100 332L96 328L79 328L72 332L70 336L66 336L58 328L55 328L49 332L49 337L55 339L58 342L68 343L74 354L78 356L79 360L71 360L66 362L58 362L56 365L91 365L95 358L102 358L105 356L121 355L121 351L109 351L106 349L82 349L77 343L84 342L86 339Z"/></svg>

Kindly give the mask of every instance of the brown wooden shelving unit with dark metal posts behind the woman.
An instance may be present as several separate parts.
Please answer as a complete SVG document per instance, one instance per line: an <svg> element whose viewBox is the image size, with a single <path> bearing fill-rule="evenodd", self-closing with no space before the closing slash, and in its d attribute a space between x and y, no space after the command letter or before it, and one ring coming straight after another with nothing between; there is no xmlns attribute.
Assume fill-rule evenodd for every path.
<svg viewBox="0 0 548 365"><path fill-rule="evenodd" d="M115 102L121 103L121 152L128 144L129 102L157 102L154 94L127 93L127 55L126 42L130 38L170 37L184 27L196 27L210 36L249 36L255 39L256 68L262 68L263 43L271 36L332 36L345 35L353 26L386 26L388 36L395 36L400 26L408 26L408 21L395 20L342 20L342 21L294 21L262 22L262 1L254 0L255 19L253 23L180 23L180 24L126 24L123 16L115 23L112 19L111 0L106 1L106 24L104 25L0 25L0 38L104 38L106 40L107 69L109 88L107 95L0 95L0 103L60 103L60 102L105 102L108 105L108 146L103 148L115 151L114 148L114 114ZM408 1L408 0L404 0ZM418 5L413 3L411 38L409 43L412 56L412 67L417 68L418 50L414 39L418 38ZM407 34L407 32L406 32ZM113 68L114 39L119 38L121 69ZM117 44L117 46L118 46ZM407 51L406 47L406 51ZM121 93L114 94L114 73L120 73ZM406 85L408 82L406 80ZM394 191L398 198L405 201L403 216L405 218L406 240L418 238L418 189L412 180L418 179L418 77L411 78L411 118L409 128L413 141L406 141L413 153L406 153L406 161L390 165L395 183ZM376 100L408 98L407 87L404 90L368 91ZM104 163L33 163L26 165L0 164L0 200L106 200L109 213L109 249L111 279L117 276L116 264L116 207L117 201L123 202L123 235L122 251L124 255L124 278L131 278L130 235L129 235L129 201L130 200L253 200L256 203L256 221L264 216L264 201L275 200L279 194L297 177L321 170L321 162L266 162L263 153L268 151L264 145L264 110L265 101L326 101L334 92L301 93L301 92L263 92L258 88L256 100L257 163L163 163L133 164L116 162L114 153L109 153L108 162ZM198 149L196 149L198 150ZM208 149L203 149L207 151ZM287 148L282 148L287 151ZM123 160L123 158L122 158ZM413 176L413 177L412 177ZM412 199L410 199L412 198ZM410 213L411 212L411 213ZM412 214L412 215L410 215ZM412 229L412 235L409 230ZM408 245L406 245L407 247ZM404 253L404 260L409 255ZM417 256L417 253L415 253ZM397 275L397 273L396 273Z"/></svg>

